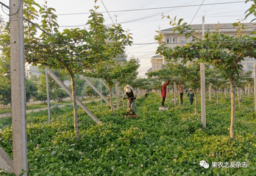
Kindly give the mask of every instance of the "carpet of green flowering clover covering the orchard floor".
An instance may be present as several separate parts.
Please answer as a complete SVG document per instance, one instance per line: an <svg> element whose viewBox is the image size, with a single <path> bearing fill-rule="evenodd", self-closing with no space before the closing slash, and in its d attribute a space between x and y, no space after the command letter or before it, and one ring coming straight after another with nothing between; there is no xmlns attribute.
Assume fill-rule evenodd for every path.
<svg viewBox="0 0 256 176"><path fill-rule="evenodd" d="M199 96L198 96L199 97ZM198 98L199 99L199 98ZM252 98L236 106L235 136L229 137L230 100L206 102L206 130L202 131L200 102L159 111L161 97L149 94L136 100L138 118L123 118L126 107L87 104L102 121L78 109L80 140L73 129L72 106L55 108L52 123L47 111L27 115L29 176L254 176L256 169L256 113ZM97 102L100 103L100 102ZM11 127L0 129L0 146L12 157ZM200 167L205 160L209 168ZM247 168L212 168L212 162L246 162ZM3 173L2 173L3 174ZM10 175L10 174L3 174Z"/></svg>

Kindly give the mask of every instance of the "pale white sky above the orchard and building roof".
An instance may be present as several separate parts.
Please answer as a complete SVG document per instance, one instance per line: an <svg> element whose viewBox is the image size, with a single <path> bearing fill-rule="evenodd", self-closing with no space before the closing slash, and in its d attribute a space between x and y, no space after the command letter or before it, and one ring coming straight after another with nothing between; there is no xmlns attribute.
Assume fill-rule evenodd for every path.
<svg viewBox="0 0 256 176"><path fill-rule="evenodd" d="M34 0L44 5L44 0ZM9 0L0 0L9 6ZM65 28L87 28L89 10L99 6L105 19L105 25L111 26L119 23L124 30L131 33L133 44L126 47L126 55L140 60L138 70L140 78L146 78L145 73L151 68L150 58L155 56L156 40L154 36L158 30L173 26L169 25L171 19L184 19L188 24L201 24L204 16L205 24L234 23L245 18L245 11L252 2L245 4L245 0L48 0L47 6L56 10L57 22L60 30ZM6 8L0 10L4 19L8 20ZM5 18L6 17L6 18ZM244 23L254 19L249 16ZM39 23L34 20L33 22Z"/></svg>

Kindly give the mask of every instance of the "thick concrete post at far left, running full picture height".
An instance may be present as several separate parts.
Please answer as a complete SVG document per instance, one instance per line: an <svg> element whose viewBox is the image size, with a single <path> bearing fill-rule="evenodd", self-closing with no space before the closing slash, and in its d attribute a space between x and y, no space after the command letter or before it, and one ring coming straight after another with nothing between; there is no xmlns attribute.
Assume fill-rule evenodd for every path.
<svg viewBox="0 0 256 176"><path fill-rule="evenodd" d="M23 1L10 0L10 56L13 171L27 176L26 89L23 33Z"/></svg>

